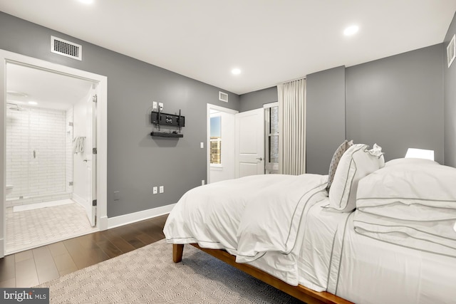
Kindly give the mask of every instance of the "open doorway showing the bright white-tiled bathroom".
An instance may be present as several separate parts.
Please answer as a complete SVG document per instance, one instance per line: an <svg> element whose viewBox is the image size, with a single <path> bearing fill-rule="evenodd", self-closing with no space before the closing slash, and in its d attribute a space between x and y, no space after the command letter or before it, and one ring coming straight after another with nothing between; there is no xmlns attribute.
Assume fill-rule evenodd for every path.
<svg viewBox="0 0 456 304"><path fill-rule="evenodd" d="M83 71L34 63L4 64L4 254L104 226L105 203L97 196L105 187L97 182L105 176L98 172L105 131L97 118L105 83Z"/></svg>

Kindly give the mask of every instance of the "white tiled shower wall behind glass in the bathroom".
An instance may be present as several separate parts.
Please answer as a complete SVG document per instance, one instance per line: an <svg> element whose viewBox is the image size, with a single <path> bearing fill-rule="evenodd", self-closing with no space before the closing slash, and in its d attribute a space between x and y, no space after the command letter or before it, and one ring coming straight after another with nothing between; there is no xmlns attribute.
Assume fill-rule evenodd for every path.
<svg viewBox="0 0 456 304"><path fill-rule="evenodd" d="M6 115L6 184L14 186L6 206L70 197L66 111L24 109Z"/></svg>

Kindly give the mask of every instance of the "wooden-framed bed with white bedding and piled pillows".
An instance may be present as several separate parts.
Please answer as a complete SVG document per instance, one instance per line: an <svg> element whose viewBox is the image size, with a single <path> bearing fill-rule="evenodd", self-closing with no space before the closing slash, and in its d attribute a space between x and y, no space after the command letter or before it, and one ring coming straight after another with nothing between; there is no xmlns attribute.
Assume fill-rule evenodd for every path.
<svg viewBox="0 0 456 304"><path fill-rule="evenodd" d="M328 175L190 190L164 233L175 262L190 244L309 304L455 303L455 185L455 168L343 142Z"/></svg>

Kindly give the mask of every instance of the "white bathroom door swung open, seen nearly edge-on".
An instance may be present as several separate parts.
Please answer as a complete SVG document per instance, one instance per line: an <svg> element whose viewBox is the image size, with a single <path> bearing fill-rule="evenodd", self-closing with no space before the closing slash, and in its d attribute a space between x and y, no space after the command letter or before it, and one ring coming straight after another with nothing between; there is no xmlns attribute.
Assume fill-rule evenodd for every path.
<svg viewBox="0 0 456 304"><path fill-rule="evenodd" d="M86 164L87 164L87 217L91 226L96 224L97 215L97 95L95 92L92 98L87 101L87 134L86 140Z"/></svg>

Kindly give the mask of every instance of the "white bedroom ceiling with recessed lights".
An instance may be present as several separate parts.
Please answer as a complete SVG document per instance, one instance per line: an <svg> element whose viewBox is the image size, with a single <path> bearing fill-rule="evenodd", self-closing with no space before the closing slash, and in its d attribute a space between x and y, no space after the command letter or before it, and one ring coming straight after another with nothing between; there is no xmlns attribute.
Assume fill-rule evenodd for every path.
<svg viewBox="0 0 456 304"><path fill-rule="evenodd" d="M0 9L242 94L441 43L456 0L0 0ZM343 36L352 24L360 31Z"/></svg>

